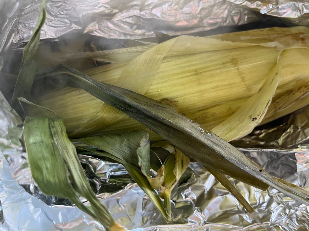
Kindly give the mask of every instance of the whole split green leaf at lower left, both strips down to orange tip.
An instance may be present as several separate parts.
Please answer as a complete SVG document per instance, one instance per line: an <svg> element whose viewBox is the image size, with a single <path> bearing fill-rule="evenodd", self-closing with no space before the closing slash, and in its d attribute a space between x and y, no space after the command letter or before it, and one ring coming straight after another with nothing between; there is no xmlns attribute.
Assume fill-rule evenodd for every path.
<svg viewBox="0 0 309 231"><path fill-rule="evenodd" d="M68 198L107 230L125 230L92 192L61 118L27 116L24 138L32 176L43 193ZM66 166L75 189L69 183ZM91 207L79 201L78 193L87 198Z"/></svg>

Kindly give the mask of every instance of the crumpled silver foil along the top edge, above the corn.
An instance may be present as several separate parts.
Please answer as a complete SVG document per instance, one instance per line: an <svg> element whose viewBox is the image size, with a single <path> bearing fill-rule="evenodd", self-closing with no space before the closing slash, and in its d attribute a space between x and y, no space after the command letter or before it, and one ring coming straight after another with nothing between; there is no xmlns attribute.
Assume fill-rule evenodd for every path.
<svg viewBox="0 0 309 231"><path fill-rule="evenodd" d="M2 0L0 4L1 51L12 40L29 40L40 1ZM299 0L49 0L46 10L41 39L85 33L115 39L149 38L156 32L189 34L254 22L255 11L304 26L309 19L309 2Z"/></svg>

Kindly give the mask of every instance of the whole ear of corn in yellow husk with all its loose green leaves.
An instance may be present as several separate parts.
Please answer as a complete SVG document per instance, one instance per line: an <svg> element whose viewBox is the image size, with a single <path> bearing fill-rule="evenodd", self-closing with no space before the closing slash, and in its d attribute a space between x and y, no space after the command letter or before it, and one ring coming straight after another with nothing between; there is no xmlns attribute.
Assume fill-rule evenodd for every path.
<svg viewBox="0 0 309 231"><path fill-rule="evenodd" d="M13 105L15 105L15 107L18 96L26 96L28 98L30 94L34 72L36 71L35 57L39 43L38 34L40 32L40 27L44 23L44 12L43 9L40 15L41 19L36 26L36 32L27 45L27 49L25 49L22 68L13 94ZM263 30L263 33L257 33L257 31L252 31L251 34L250 32L240 32L232 34L231 36L218 35L208 38L180 36L159 45L150 44L150 46L108 52L104 51L86 54L86 56L88 55L89 57L89 55L94 55L98 56L98 58L104 62L114 63L102 67L100 70L96 69L95 71L89 71L89 73L93 75L96 75L97 71L99 71L99 78L102 78L102 76L104 77L101 81L108 82L110 80L116 86L125 87L143 95L149 94L150 97L155 99L156 95L159 95L159 98L163 95L165 97L168 96L168 98L161 98L160 101L175 104L178 110L183 114L187 113L188 116L192 113L192 115L198 116L198 118L201 118L201 115L202 118L205 118L205 116L203 116L203 113L206 111L205 109L222 109L230 105L231 110L229 113L224 114L217 120L213 120L217 123L213 124L213 131L217 132L226 140L234 140L248 134L256 125L263 123L262 120L264 118L272 120L275 116L284 115L284 113L288 111L297 110L300 105L305 104L308 90L307 71L303 68L303 65L300 65L298 72L289 69L289 67L285 70L285 63L283 62L293 62L295 58L299 58L301 55L307 57L307 40L308 31L305 28L295 27L290 30L276 28L272 31L267 29ZM286 49L290 51L284 52L284 61L280 60L277 63L276 57ZM235 56L231 54L235 54ZM245 57L247 59L244 59L242 57L245 56L244 54L250 55L247 55L247 57ZM82 56L86 57L85 55ZM250 60L249 58L252 57L253 59ZM256 57L259 59L256 59ZM267 62L263 60L265 57L267 57ZM70 59L72 60L74 57L70 57ZM200 60L205 62L202 63ZM225 68L219 70L222 64L225 65ZM266 67L266 71L257 69L256 79L250 78L251 76L248 78L250 69L252 70L252 67L257 68L261 64ZM231 65L231 67L228 67L229 65ZM273 66L275 67L273 68ZM174 67L184 68L184 70L179 72L175 70ZM224 75L234 72L235 70L235 77L233 76L231 78L231 82L228 86L234 87L235 84L235 89L238 86L240 87L237 88L237 92L228 95L231 98L230 100L224 101L222 100L222 98L224 98L222 95L227 94L221 93L220 95L219 92L227 88L220 88L222 84L216 84L209 76L221 77L221 79L223 79L225 77ZM283 70L284 74L281 74ZM66 78L69 76L68 79L64 79L65 82L70 83L74 87L85 89L98 99L104 100L106 103L113 106L111 107L101 102L98 104L99 101L97 100L93 101L92 105L97 106L96 108L94 107L95 115L89 116L86 113L83 115L82 123L79 122L80 118L78 118L78 121L73 121L72 124L68 124L68 130L72 129L72 133L70 134L71 137L109 132L109 129L115 131L114 126L121 126L121 122L126 124L125 129L142 128L140 124L128 123L128 116L131 116L172 144L175 144L185 153L193 156L194 159L200 161L249 212L253 211L252 207L223 174L228 174L236 179L263 189L265 189L267 185L273 186L295 200L308 204L308 192L306 190L270 176L256 163L241 155L230 144L226 143L212 132L203 130L198 124L177 114L173 107L158 103L132 91L107 84L100 84L72 68L64 68L64 70L61 70L61 68L57 70L56 68L55 71L57 72L54 75L60 75L62 77L64 75ZM218 75L218 72L222 73ZM208 78L200 78L205 76L205 73L207 73L207 75L210 74L207 76ZM267 73L269 74L266 75ZM25 75L29 75L30 79L26 80L24 78ZM110 76L109 80L107 75ZM158 77L160 75L161 78ZM197 76L199 76L199 78L196 78ZM175 88L172 82L165 85L167 77L174 79L174 84L183 83L182 87L184 88L184 92L181 94L181 90ZM239 77L241 81L239 81ZM238 81L235 81L235 79ZM192 85L188 85L188 83ZM204 85L203 83L206 84ZM208 100L210 102L207 102L203 96L205 96L205 92L209 93L212 89L205 89L205 86L211 84L213 84L213 88L216 89L217 87L216 90L218 92L213 91L215 94L211 95L211 97L208 96L210 97L210 100ZM23 85L26 87L24 90L21 90ZM159 89L151 88L152 86L159 87ZM194 89L194 92L190 93L186 87ZM301 89L301 92L294 91L295 87ZM161 89L166 89L166 92L161 92L161 94L164 93L163 95L157 92L160 92ZM288 91L294 91L292 94L293 101L288 98ZM72 92L74 94L74 91L66 89L59 92L61 96L67 93L72 94ZM56 94L59 92L56 92ZM180 93L179 96L175 95L176 93ZM273 103L272 106L270 102L274 95L277 101L276 104ZM51 96L49 95L48 97ZM72 95L70 95L70 97L72 97ZM29 103L23 98L19 99ZM211 101L211 99L213 101ZM186 102L186 100L189 101ZM279 100L286 100L286 102L280 102ZM50 104L51 102L47 102L48 99L46 100L44 97L38 101L40 105L44 106L42 107L43 109L49 107L52 111L56 111L63 116L58 109L61 107L64 108L65 106L57 106L57 100L53 99L53 105L56 105L56 108L53 108ZM61 104L63 104L63 102L62 99ZM198 103L194 107L188 107L188 105L191 106L190 102ZM207 107L205 107L206 102L209 103ZM248 106L252 106L255 102L256 107L248 108ZM72 102L70 102L70 104L72 104ZM78 106L81 105L82 104ZM232 108L231 105L233 105L234 108ZM77 106L77 104L74 104L74 106ZM114 107L125 112L126 115L117 111ZM280 107L280 110L276 110L276 107ZM269 108L271 110L268 110ZM68 108L65 107L65 110L68 111ZM215 112L219 114L218 111ZM266 112L268 115L265 116ZM38 111L34 111L34 113L38 113ZM71 111L70 113L72 114ZM72 115L74 116L76 114ZM81 114L78 113L78 115ZM257 115L257 117L249 118L248 115L249 117ZM68 117L65 118L68 120ZM220 124L220 122L222 123ZM44 130L41 134L37 131L36 134L31 132L30 127L34 126L35 123L40 125L36 126L36 129ZM243 127L247 129L241 131ZM121 130L123 131L124 128L121 127ZM131 150L128 148L130 144L123 147L123 143L120 144L118 142L119 140L121 141L121 139L117 140L115 136L112 137L112 141L110 140L110 144L106 143L105 138L106 137L103 139L103 137L100 136L96 147L109 149L111 153L104 152L103 154L102 152L102 155L114 157L115 160L121 160L129 174L138 182L145 193L155 203L163 217L169 221L171 217L171 190L186 171L189 163L188 157L180 150L176 149L175 153L168 157L166 164L158 168L158 176L152 178L150 175L150 144L148 139L145 140L145 137L142 138L138 143L139 147ZM186 140L186 142L183 142L184 140ZM45 141L47 141L47 143L39 147L38 144ZM87 144L90 142L89 140L87 141L87 138L79 139L79 141L88 142ZM91 191L89 182L78 161L76 150L66 136L65 127L61 119L26 118L25 143L28 155L30 153L29 163L31 164L33 175L36 180L40 182L39 187L42 188L43 192L47 194L51 193L50 195L70 198L71 201L83 211L89 213L104 224L108 230L124 230L121 225L114 221L108 213L108 210L99 202ZM130 143L134 145L136 142L130 140ZM115 152L109 147L109 145L115 147L117 145L119 146L119 144L122 149L119 149L118 152ZM209 149L207 150L206 148ZM44 152L44 155L41 155L40 158L44 157L48 161L43 161L41 159L38 163L34 161L34 154L40 152L40 150ZM91 151L101 153L96 150ZM64 153L66 153L66 155L64 155ZM119 155L119 153L122 154ZM132 153L135 153L133 155L135 158L128 159L128 153L131 154L130 157L132 157ZM46 177L39 176L38 173L43 172L43 168L47 168L47 171L50 171L51 165L59 167L59 169L61 169L61 174L48 172L48 176ZM66 165L70 171L75 189L68 183L68 176L64 173L66 172ZM37 169L39 169L38 172L36 172ZM167 175L164 175L165 170ZM51 189L51 187L54 186L57 187ZM67 190L60 192L60 187L67 187ZM161 196L164 198L165 208L154 191L155 188L159 187L162 190ZM91 208L83 206L78 199L78 193L89 200Z"/></svg>

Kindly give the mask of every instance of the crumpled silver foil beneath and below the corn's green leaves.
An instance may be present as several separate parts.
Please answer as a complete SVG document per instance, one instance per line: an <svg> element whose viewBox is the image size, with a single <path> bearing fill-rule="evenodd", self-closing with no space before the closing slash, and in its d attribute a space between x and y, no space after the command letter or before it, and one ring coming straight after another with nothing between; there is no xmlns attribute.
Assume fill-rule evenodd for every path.
<svg viewBox="0 0 309 231"><path fill-rule="evenodd" d="M0 95L0 147L3 163L2 230L103 230L89 215L67 200L46 197L31 177L23 152L21 120ZM309 189L308 168L297 171L295 155L309 156L309 147L295 150L239 149L270 174ZM6 159L4 158L6 157ZM130 183L120 164L79 156L88 179L104 187L115 179L126 184L117 192L97 190L97 196L115 219L128 230L308 230L309 206L302 205L270 188L264 192L230 179L256 210L244 211L238 201L199 163L190 167L200 176L197 181L172 193L174 224L166 224L152 202L137 184ZM299 170L299 169L298 169ZM117 176L120 178L117 178ZM19 183L18 183L19 182ZM87 205L87 201L84 202Z"/></svg>

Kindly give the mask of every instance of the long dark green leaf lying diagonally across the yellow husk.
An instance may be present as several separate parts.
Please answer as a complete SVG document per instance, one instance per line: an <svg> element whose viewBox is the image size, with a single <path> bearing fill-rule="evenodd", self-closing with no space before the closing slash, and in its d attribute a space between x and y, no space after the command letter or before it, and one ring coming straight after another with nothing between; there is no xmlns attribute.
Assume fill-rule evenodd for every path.
<svg viewBox="0 0 309 231"><path fill-rule="evenodd" d="M156 132L182 152L217 172L244 183L265 189L269 186L296 201L309 205L309 193L300 187L290 187L269 175L263 168L231 144L199 124L177 113L171 105L163 104L135 92L99 83L73 68L58 66L45 76L58 76L59 80L79 87ZM63 78L63 77L66 78Z"/></svg>

